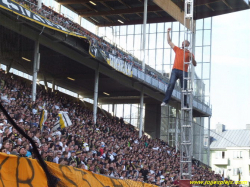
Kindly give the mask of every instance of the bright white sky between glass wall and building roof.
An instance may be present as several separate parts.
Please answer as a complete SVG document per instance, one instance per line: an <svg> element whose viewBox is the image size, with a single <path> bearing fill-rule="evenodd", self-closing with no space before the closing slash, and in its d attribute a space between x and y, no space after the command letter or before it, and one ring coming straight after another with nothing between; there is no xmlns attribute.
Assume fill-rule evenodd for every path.
<svg viewBox="0 0 250 187"><path fill-rule="evenodd" d="M250 124L250 10L213 17L211 128Z"/></svg>

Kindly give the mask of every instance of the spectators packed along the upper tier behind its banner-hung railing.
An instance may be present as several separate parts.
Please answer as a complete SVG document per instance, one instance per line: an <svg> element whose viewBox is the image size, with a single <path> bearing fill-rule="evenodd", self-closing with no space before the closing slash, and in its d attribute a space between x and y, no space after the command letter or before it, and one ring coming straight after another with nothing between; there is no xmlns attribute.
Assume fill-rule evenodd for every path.
<svg viewBox="0 0 250 187"><path fill-rule="evenodd" d="M83 28L78 23L73 22L63 14L61 15L57 13L56 11L54 11L50 7L45 6L44 4L42 4L42 8L39 9L36 0L15 0L15 1L21 4L22 6L32 10L33 12L42 15L43 17L47 18L53 23L61 25L71 32L75 32L82 36L87 37L88 40L91 41L93 45L100 47L100 49L106 52L116 55L120 59L123 59L125 62L132 64L133 67L142 71L142 64L138 59L134 58L131 54L128 54L122 51L121 49L117 48L117 46L114 46L109 42L105 41L102 37L96 36L95 34L89 32L87 29ZM150 75L151 77L163 83L167 83L166 80L159 73L156 73L156 71L153 71L151 69L146 69L146 74Z"/></svg>

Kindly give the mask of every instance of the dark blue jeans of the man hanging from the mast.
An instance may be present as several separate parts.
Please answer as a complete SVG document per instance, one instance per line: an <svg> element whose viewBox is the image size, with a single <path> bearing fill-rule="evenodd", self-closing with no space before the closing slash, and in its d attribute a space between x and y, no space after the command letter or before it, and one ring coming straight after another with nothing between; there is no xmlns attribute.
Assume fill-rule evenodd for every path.
<svg viewBox="0 0 250 187"><path fill-rule="evenodd" d="M188 76L188 73L185 72L185 77ZM171 77L170 77L170 81L168 84L168 88L165 94L165 98L163 99L163 102L165 102L166 104L169 102L171 95L173 93L174 90L174 86L177 80L180 80L181 83L181 88L183 88L183 71L178 70L178 69L172 69L172 73L171 73ZM187 89L187 80L184 80L184 90ZM184 96L184 105L187 105L187 96Z"/></svg>

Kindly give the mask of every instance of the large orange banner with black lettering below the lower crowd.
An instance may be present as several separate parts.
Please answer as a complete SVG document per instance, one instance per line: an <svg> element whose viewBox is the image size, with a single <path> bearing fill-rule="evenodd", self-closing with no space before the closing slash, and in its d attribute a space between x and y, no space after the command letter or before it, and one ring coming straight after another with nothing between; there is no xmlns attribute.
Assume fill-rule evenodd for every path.
<svg viewBox="0 0 250 187"><path fill-rule="evenodd" d="M152 184L121 180L94 174L91 171L46 162L50 172L64 186L86 187L156 187ZM37 160L0 153L0 186L47 187L47 178Z"/></svg>

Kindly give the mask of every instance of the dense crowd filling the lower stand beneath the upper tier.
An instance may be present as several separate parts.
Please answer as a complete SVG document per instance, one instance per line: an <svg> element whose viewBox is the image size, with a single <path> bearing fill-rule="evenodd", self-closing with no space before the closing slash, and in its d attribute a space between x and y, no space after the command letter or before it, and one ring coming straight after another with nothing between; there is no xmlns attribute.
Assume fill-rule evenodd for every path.
<svg viewBox="0 0 250 187"><path fill-rule="evenodd" d="M120 179L143 181L158 186L179 186L180 153L159 139L143 136L123 119L109 119L93 113L82 102L60 92L37 88L31 100L31 82L0 71L1 103L35 141L45 161L90 170ZM42 109L48 111L44 129L39 129ZM66 111L73 123L52 132L58 112ZM0 112L0 152L35 158L30 144ZM193 180L216 181L220 175L193 164Z"/></svg>

